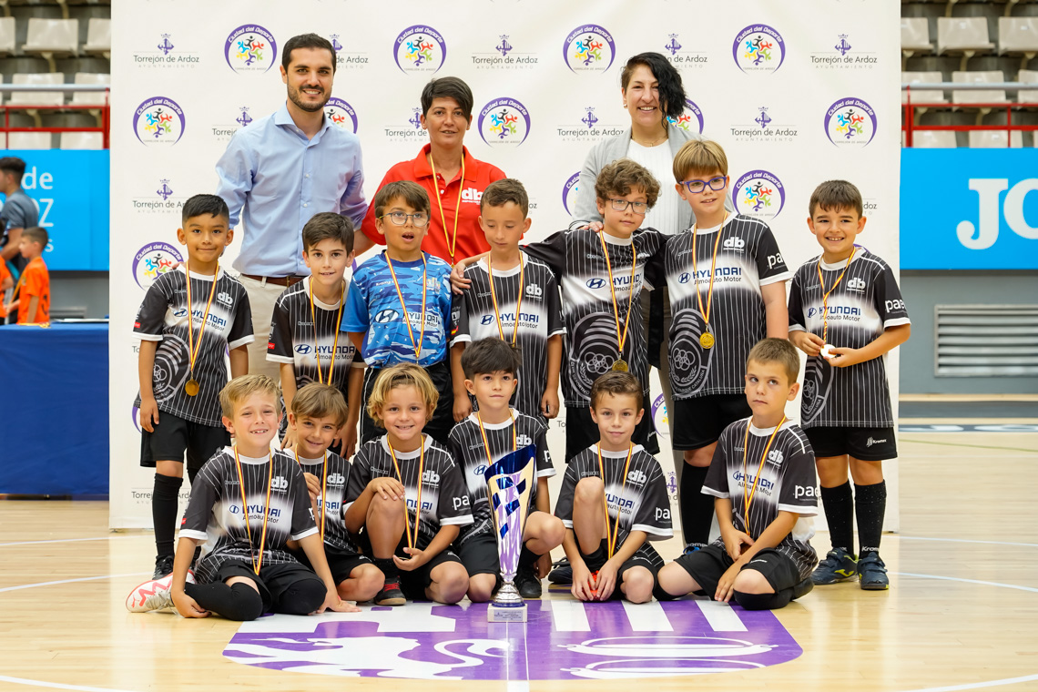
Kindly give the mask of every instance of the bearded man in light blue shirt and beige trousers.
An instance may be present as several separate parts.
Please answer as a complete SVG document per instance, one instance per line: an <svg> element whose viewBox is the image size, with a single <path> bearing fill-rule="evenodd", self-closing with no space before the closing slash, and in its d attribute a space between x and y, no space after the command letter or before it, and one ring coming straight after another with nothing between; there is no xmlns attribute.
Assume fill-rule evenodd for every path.
<svg viewBox="0 0 1038 692"><path fill-rule="evenodd" d="M303 264L303 225L315 214L335 212L355 227L367 211L360 140L325 117L335 76L335 51L313 33L293 36L281 56L284 106L242 128L216 163L216 194L241 220L241 251L234 262L252 306L255 341L249 372L277 378L267 360L274 302L309 275Z"/></svg>

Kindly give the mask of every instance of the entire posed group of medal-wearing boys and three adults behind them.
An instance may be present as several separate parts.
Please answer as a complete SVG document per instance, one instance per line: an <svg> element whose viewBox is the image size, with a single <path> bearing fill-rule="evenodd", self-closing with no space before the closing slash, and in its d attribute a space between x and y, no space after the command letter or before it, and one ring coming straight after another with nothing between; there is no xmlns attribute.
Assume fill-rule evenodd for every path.
<svg viewBox="0 0 1038 692"><path fill-rule="evenodd" d="M367 199L363 138L326 115L332 44L279 48L284 104L229 139L216 190L184 202L167 231L184 259L133 325L156 559L129 610L251 620L490 602L512 581L537 599L545 578L584 602L746 610L848 580L889 588L884 357L910 323L895 272L861 244L853 179L786 200L820 246L787 266L767 223L732 204L723 137L675 126L681 74L639 53L616 93L626 132L572 162L572 218L529 242L523 181L465 146L463 79L411 96L428 142ZM549 450L559 414L565 448ZM515 506L488 470L523 455L511 580ZM665 562L653 544L675 534L685 546Z"/></svg>

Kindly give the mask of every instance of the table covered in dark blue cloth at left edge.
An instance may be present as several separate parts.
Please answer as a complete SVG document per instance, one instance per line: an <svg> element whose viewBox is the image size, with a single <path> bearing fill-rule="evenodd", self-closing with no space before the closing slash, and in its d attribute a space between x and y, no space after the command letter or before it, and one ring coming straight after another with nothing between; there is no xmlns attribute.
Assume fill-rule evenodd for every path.
<svg viewBox="0 0 1038 692"><path fill-rule="evenodd" d="M0 326L0 494L108 494L108 325Z"/></svg>

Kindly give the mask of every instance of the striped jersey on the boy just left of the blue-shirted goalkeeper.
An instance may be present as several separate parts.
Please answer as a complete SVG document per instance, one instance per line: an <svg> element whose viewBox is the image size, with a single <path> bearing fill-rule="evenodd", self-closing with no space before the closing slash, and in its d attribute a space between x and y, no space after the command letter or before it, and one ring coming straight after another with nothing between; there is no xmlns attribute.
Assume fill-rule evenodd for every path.
<svg viewBox="0 0 1038 692"><path fill-rule="evenodd" d="M330 384L345 395L350 367L363 367L364 361L357 356L357 350L346 332L339 332L338 326L339 301L335 301L333 305L322 303L315 296L311 315L310 277L306 277L285 288L274 303L267 360L291 363L296 372L296 389L300 389L311 382L320 382L319 364L325 384L329 384L328 370L334 349L335 369L332 370Z"/></svg>

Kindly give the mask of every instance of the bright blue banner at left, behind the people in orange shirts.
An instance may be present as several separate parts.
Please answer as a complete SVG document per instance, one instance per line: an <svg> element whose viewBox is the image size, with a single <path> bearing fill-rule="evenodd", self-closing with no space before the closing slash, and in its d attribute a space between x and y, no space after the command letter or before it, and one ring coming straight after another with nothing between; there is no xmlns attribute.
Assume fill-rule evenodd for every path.
<svg viewBox="0 0 1038 692"><path fill-rule="evenodd" d="M108 150L7 150L25 161L22 188L39 210L53 271L108 271Z"/></svg>

